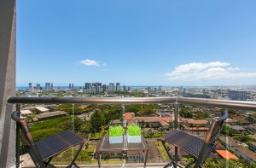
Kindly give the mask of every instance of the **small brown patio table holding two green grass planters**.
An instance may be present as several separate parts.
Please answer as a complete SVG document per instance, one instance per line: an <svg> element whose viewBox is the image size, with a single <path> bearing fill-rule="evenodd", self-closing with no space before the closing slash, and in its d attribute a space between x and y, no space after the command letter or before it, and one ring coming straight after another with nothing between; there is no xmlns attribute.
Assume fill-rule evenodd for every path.
<svg viewBox="0 0 256 168"><path fill-rule="evenodd" d="M127 136L124 135L122 143L109 143L109 136L102 136L102 139L97 143L96 146L96 159L98 160L99 168L101 167L102 153L124 153L125 151L143 151L144 167L146 167L148 158L148 145L145 142L143 136L142 142L130 143L127 142Z"/></svg>

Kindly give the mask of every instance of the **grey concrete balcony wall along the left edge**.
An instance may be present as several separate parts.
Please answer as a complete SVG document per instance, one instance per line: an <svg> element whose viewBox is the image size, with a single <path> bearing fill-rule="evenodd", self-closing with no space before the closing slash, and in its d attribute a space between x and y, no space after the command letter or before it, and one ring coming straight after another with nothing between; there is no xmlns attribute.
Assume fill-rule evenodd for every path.
<svg viewBox="0 0 256 168"><path fill-rule="evenodd" d="M15 0L0 1L0 167L15 167L15 122L10 118L14 105L16 73Z"/></svg>

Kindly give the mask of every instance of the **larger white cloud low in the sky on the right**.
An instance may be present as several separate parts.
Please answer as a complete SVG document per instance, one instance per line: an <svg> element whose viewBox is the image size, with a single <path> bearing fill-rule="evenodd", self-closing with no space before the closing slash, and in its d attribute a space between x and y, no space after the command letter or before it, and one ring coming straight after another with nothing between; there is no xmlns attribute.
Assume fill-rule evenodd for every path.
<svg viewBox="0 0 256 168"><path fill-rule="evenodd" d="M228 62L207 62L183 64L172 72L167 72L166 76L172 80L196 81L228 78L252 78L256 77L256 72L242 72L238 67L230 67Z"/></svg>

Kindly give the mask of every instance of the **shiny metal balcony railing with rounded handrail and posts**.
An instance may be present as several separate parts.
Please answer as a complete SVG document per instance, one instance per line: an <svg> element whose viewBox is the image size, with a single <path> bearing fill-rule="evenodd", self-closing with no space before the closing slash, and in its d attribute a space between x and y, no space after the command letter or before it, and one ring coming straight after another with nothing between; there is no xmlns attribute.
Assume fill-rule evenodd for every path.
<svg viewBox="0 0 256 168"><path fill-rule="evenodd" d="M256 102L252 101L224 101L212 99L199 99L188 97L9 97L9 103L16 104L17 110L20 111L20 104L172 104L175 112L175 129L177 129L178 105L193 105L202 107L221 107L237 110L248 110L256 112ZM20 135L16 132L16 165L20 165ZM175 159L177 161L177 148L175 148Z"/></svg>

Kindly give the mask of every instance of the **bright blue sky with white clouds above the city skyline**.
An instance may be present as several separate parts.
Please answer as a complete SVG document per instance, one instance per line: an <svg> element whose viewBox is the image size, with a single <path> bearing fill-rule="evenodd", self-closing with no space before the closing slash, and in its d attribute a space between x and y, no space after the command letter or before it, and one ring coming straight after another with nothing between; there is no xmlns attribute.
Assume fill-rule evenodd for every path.
<svg viewBox="0 0 256 168"><path fill-rule="evenodd" d="M17 1L17 85L256 84L256 1Z"/></svg>

